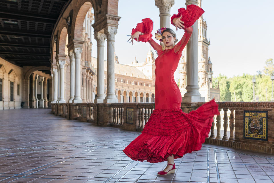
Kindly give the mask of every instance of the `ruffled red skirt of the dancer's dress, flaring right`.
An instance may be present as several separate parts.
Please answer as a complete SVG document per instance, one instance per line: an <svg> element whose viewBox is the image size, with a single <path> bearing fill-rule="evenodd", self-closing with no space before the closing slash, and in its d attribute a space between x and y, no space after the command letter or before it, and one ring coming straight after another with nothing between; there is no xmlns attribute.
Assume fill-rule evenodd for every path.
<svg viewBox="0 0 274 183"><path fill-rule="evenodd" d="M215 114L219 114L214 100L189 114L178 109L155 109L142 134L123 151L132 160L158 163L174 154L174 159L198 151L208 137Z"/></svg>

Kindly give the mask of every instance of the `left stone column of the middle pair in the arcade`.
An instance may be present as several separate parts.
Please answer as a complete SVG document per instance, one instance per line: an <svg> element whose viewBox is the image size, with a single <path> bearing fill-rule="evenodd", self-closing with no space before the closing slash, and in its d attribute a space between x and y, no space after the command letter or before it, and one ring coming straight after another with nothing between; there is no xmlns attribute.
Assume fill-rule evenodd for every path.
<svg viewBox="0 0 274 183"><path fill-rule="evenodd" d="M72 103L73 99L74 99L74 84L75 84L75 59L74 59L74 53L72 50L70 50L68 52L68 56L69 56L69 86L70 86L70 96L69 96L69 100L68 103Z"/></svg>

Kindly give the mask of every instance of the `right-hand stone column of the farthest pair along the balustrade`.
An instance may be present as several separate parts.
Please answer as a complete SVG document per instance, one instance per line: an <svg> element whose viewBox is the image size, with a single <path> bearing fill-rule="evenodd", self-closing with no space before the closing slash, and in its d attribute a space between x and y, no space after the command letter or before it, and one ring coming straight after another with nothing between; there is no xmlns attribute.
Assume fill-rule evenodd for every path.
<svg viewBox="0 0 274 183"><path fill-rule="evenodd" d="M59 91L60 91L60 98L58 103L66 103L65 101L65 87L64 87L64 83L65 83L65 63L66 63L66 56L67 55L57 55L58 57L58 64L59 64L59 74L60 74L60 84L59 84Z"/></svg>

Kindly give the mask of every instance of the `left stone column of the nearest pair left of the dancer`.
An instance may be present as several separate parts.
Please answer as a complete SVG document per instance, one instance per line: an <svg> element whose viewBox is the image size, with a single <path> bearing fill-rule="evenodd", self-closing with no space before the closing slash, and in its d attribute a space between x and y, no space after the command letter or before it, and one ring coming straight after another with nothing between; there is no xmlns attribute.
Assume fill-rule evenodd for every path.
<svg viewBox="0 0 274 183"><path fill-rule="evenodd" d="M104 33L95 32L94 38L97 41L97 96L94 103L103 103L104 94Z"/></svg>

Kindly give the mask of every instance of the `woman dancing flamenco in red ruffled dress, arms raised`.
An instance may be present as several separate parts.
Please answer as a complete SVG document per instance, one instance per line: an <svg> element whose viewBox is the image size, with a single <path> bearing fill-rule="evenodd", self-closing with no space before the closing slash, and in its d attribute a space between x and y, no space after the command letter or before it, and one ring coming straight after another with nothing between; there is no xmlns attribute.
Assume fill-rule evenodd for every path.
<svg viewBox="0 0 274 183"><path fill-rule="evenodd" d="M188 5L187 9L180 8L178 11L177 15L171 17L171 23L176 30L184 29L185 33L176 45L176 33L170 28L162 27L155 34L162 46L151 39L153 22L149 18L138 23L130 37L132 44L134 39L149 42L158 54L155 59L155 109L142 134L123 151L132 160L151 163L167 160L166 168L158 175L175 173L174 159L200 150L208 137L214 115L219 114L214 99L189 114L181 110L182 96L174 80L174 71L192 34L191 26L204 10L196 5Z"/></svg>

